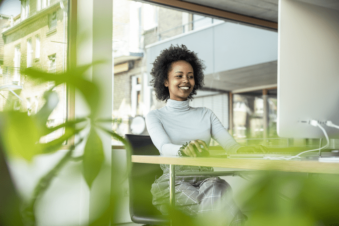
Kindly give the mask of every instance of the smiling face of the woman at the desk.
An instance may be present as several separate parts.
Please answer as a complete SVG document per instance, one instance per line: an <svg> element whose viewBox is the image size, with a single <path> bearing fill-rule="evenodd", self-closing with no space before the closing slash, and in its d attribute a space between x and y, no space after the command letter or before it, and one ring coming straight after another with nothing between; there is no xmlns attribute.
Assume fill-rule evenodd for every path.
<svg viewBox="0 0 339 226"><path fill-rule="evenodd" d="M194 84L192 66L184 60L173 62L164 82L164 85L168 87L170 99L186 100L192 92Z"/></svg>

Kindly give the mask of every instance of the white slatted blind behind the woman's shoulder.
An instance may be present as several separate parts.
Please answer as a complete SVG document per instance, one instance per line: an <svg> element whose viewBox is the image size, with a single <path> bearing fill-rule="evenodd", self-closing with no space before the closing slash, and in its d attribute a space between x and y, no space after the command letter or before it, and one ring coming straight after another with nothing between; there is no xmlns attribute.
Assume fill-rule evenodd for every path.
<svg viewBox="0 0 339 226"><path fill-rule="evenodd" d="M225 129L229 129L229 94L195 97L189 101L192 107L207 107L211 109L220 120Z"/></svg>

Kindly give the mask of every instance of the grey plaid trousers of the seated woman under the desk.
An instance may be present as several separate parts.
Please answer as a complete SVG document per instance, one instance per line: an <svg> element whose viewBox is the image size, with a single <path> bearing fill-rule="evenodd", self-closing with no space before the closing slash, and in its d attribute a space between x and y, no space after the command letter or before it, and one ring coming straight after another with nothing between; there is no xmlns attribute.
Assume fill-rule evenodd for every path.
<svg viewBox="0 0 339 226"><path fill-rule="evenodd" d="M162 165L164 174L152 184L153 205L167 214L169 204L169 167ZM213 171L211 167L176 165L175 171ZM216 214L223 225L245 224L245 216L233 200L232 188L223 179L215 176L175 177L175 206L191 216Z"/></svg>

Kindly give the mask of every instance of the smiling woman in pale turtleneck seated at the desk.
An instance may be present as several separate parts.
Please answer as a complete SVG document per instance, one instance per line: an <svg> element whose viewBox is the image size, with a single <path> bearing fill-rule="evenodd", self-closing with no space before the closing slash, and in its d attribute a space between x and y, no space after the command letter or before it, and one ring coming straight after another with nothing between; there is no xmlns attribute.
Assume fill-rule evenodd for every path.
<svg viewBox="0 0 339 226"><path fill-rule="evenodd" d="M204 69L202 60L184 45L171 45L155 59L151 84L157 99L167 101L167 105L150 111L146 116L146 125L161 155L196 157L198 152L208 150L211 137L228 153L240 150L241 146L210 109L188 105L189 99L203 86ZM160 166L164 174L154 182L151 192L153 204L166 214L169 166ZM211 167L197 166L175 166L175 170L213 171ZM232 198L230 185L219 177L176 177L175 205L188 215L221 210L225 225L243 225L245 222L245 216Z"/></svg>

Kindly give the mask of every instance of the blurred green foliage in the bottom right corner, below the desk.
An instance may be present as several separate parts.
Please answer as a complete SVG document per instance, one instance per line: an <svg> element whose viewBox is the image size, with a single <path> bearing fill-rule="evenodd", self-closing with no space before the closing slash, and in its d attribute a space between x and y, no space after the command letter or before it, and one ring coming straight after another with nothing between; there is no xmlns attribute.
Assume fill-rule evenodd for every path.
<svg viewBox="0 0 339 226"><path fill-rule="evenodd" d="M338 225L339 175L263 172L238 200L249 225Z"/></svg>

